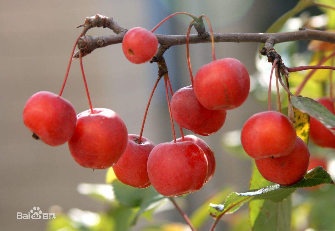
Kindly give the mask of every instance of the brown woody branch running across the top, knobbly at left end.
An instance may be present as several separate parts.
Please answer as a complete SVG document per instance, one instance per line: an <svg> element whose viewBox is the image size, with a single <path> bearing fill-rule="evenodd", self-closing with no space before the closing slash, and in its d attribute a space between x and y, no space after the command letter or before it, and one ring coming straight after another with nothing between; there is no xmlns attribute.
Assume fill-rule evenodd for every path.
<svg viewBox="0 0 335 231"><path fill-rule="evenodd" d="M83 26L86 25L88 25L89 28L92 28L94 26L108 27L112 29L116 34L103 35L103 36L82 36L78 41L78 47L82 51L83 56L91 53L96 48L121 43L123 36L127 31L125 28L119 26L113 20L113 18L105 17L98 14L92 17L87 17L85 20L85 24ZM158 38L158 42L165 47L186 44L186 35L156 34L156 36ZM332 32L305 29L305 28L300 28L298 31L280 32L280 33L214 33L215 42L265 43L267 40L269 41L269 39L271 39L273 45L275 43L280 42L312 40L312 39L335 43L335 34ZM205 31L203 31L202 35L200 35L199 33L190 35L190 43L206 43L206 42L211 41L210 37L207 36L207 32ZM73 57L75 58L79 57L79 53L76 52Z"/></svg>

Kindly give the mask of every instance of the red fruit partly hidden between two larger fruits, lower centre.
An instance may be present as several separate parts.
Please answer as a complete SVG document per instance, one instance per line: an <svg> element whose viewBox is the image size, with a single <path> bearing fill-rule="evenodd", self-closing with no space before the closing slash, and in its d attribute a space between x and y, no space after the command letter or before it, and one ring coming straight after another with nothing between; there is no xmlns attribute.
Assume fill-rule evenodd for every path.
<svg viewBox="0 0 335 231"><path fill-rule="evenodd" d="M141 143L138 143L138 140L139 135L128 135L127 148L118 162L113 165L113 170L122 183L136 188L146 188L151 185L147 162L155 144L143 136Z"/></svg>

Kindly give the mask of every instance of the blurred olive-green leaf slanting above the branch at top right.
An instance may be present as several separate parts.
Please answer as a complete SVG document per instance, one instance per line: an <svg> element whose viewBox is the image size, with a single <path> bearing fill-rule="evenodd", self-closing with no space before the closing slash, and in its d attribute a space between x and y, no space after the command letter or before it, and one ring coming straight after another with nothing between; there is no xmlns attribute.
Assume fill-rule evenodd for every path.
<svg viewBox="0 0 335 231"><path fill-rule="evenodd" d="M315 4L316 4L315 0L300 0L291 10L287 11L285 14L280 16L280 18L278 18L274 23L272 23L272 25L266 30L265 33L275 33L280 31L280 29L283 27L283 25L289 18L303 11L307 7L313 6ZM260 51L263 46L264 43L261 43L258 51ZM261 56L260 52L258 53Z"/></svg>

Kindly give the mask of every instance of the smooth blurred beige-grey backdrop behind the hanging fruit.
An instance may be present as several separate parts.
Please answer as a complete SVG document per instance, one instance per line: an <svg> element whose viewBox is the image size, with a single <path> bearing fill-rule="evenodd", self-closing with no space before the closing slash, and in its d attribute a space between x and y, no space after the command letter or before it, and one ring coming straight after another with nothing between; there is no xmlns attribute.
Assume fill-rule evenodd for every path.
<svg viewBox="0 0 335 231"><path fill-rule="evenodd" d="M297 1L285 0L211 0L211 1L9 1L0 2L0 76L1 91L1 230L44 230L47 220L17 220L16 212L28 213L34 206L43 212L72 208L103 211L98 203L78 192L81 183L104 184L107 170L87 169L71 157L66 144L50 147L31 138L22 122L26 100L35 92L58 93L64 78L73 43L81 32L76 26L86 16L96 13L113 17L125 28L142 26L151 29L164 17L177 11L206 14L215 32L264 32L280 15ZM311 12L318 12L311 9ZM175 16L160 26L159 34L186 34L190 18ZM112 34L103 28L90 29L87 35ZM192 29L191 33L195 33ZM257 43L217 43L216 57L235 57L256 72ZM211 45L191 44L193 73L211 61ZM190 85L185 46L174 46L164 54L174 91ZM126 60L121 44L94 50L83 58L84 70L93 107L110 108L125 121L128 133L138 134L145 106L157 78L156 64L134 65ZM261 65L270 66L266 61ZM252 83L253 84L253 83ZM78 60L72 62L63 97L77 113L87 110L88 103ZM177 199L191 214L209 197L223 188L248 190L251 159L236 158L224 149L224 140L239 139L236 132L256 112L267 109L267 103L250 94L239 108L230 110L222 129L204 139L215 152L216 173L202 190ZM163 81L158 85L150 105L144 136L155 144L172 140ZM178 132L178 129L176 129ZM185 134L191 134L184 129ZM226 135L225 135L226 134ZM228 135L227 135L228 134ZM81 185L82 186L82 185ZM57 206L55 206L57 205ZM51 210L50 210L51 209ZM247 206L244 206L247 209ZM73 210L72 210L73 212ZM183 222L176 210L154 215L155 221ZM211 219L204 224L208 230ZM133 230L147 224L140 218ZM226 227L220 222L218 230Z"/></svg>

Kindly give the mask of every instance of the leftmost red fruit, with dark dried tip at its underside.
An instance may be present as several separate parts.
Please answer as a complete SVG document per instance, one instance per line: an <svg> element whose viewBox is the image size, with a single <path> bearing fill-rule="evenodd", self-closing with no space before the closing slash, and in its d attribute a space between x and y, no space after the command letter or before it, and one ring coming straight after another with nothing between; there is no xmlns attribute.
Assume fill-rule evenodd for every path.
<svg viewBox="0 0 335 231"><path fill-rule="evenodd" d="M76 121L72 104L52 92L37 92L24 105L24 125L51 146L67 142L76 128Z"/></svg>

